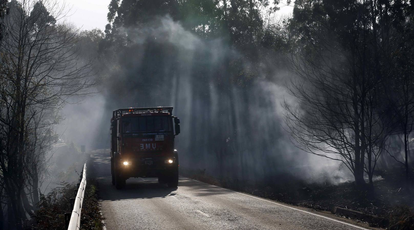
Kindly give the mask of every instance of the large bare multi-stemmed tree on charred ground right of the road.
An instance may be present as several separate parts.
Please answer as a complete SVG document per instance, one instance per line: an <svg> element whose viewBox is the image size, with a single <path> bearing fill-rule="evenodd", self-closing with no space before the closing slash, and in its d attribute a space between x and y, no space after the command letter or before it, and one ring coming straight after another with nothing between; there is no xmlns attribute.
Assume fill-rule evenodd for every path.
<svg viewBox="0 0 414 230"><path fill-rule="evenodd" d="M296 1L291 23L297 80L290 92L298 106L284 104L289 132L297 147L342 161L358 185L365 183L364 172L372 183L376 161L395 129L385 102L390 74L383 63L397 37L391 17L399 17L399 6L386 4ZM344 15L354 17L342 20Z"/></svg>

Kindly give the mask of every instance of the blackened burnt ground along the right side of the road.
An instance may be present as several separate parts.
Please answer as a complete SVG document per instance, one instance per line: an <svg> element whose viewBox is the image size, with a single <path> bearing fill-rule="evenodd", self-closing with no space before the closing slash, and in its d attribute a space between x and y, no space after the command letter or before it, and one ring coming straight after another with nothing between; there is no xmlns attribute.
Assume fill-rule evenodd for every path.
<svg viewBox="0 0 414 230"><path fill-rule="evenodd" d="M182 175L205 183L274 199L297 206L332 211L334 206L361 211L384 218L388 229L414 229L414 170L407 180L404 170L378 171L379 180L364 187L353 182L307 183L294 177L266 184L214 178L205 171L190 171L181 168ZM375 226L375 223L372 223Z"/></svg>

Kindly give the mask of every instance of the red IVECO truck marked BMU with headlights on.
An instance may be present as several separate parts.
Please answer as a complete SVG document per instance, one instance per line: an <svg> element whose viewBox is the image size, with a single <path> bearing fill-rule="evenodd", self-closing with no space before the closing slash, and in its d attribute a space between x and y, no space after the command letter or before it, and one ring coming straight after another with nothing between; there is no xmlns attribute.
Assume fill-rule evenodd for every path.
<svg viewBox="0 0 414 230"><path fill-rule="evenodd" d="M111 119L111 175L117 189L131 177L158 178L178 186L178 152L175 136L180 119L173 107L116 109Z"/></svg>

